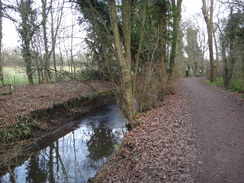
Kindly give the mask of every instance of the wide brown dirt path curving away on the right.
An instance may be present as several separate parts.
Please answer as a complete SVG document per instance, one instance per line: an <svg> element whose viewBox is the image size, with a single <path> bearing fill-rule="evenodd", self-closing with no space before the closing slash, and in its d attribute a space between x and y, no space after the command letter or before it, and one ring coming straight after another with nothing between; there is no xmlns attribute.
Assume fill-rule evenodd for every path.
<svg viewBox="0 0 244 183"><path fill-rule="evenodd" d="M244 104L204 83L182 79L190 93L198 144L199 183L244 182Z"/></svg>

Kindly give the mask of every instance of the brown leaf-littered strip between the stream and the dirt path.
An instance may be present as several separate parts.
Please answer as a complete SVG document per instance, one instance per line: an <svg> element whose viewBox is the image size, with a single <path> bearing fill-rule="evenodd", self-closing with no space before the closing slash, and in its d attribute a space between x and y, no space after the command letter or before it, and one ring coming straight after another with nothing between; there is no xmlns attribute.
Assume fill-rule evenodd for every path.
<svg viewBox="0 0 244 183"><path fill-rule="evenodd" d="M139 114L141 126L90 182L196 182L196 144L190 104L181 90Z"/></svg>

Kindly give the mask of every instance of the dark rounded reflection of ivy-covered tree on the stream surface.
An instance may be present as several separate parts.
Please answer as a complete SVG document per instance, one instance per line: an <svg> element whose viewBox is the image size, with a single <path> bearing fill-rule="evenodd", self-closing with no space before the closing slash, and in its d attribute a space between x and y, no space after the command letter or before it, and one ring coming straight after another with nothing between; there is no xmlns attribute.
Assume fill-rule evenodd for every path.
<svg viewBox="0 0 244 183"><path fill-rule="evenodd" d="M107 158L113 152L115 142L116 138L111 129L102 125L97 128L93 126L91 138L86 143L90 153L88 157L95 162Z"/></svg>

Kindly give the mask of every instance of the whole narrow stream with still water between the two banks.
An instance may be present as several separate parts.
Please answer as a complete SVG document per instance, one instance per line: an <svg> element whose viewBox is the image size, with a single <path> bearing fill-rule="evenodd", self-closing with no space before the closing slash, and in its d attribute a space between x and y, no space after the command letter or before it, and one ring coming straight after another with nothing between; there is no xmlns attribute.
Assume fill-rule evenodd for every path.
<svg viewBox="0 0 244 183"><path fill-rule="evenodd" d="M104 107L79 120L68 134L52 141L12 172L17 183L87 182L120 144L127 119L116 105ZM13 180L9 173L2 183Z"/></svg>

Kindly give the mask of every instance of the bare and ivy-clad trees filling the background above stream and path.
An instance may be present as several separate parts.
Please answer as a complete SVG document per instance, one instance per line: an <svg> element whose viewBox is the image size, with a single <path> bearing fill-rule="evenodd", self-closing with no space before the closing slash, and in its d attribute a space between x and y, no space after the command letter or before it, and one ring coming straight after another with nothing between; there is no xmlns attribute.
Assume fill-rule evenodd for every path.
<svg viewBox="0 0 244 183"><path fill-rule="evenodd" d="M3 86L9 84L4 78L8 65L21 65L29 85L65 77L111 81L117 86L117 102L132 126L136 125L135 114L152 108L172 92L179 77L207 76L211 82L222 78L225 88L236 85L243 91L241 1L204 0L200 18L205 25L191 19L181 21L182 0L42 0L39 4L19 0L0 4L1 22L12 20L20 39L16 50L4 50L0 41ZM62 45L65 37L61 33L67 31L62 22L66 8L80 14L74 24L85 27L85 53L74 53L72 26L70 47ZM233 84L232 79L237 82Z"/></svg>

